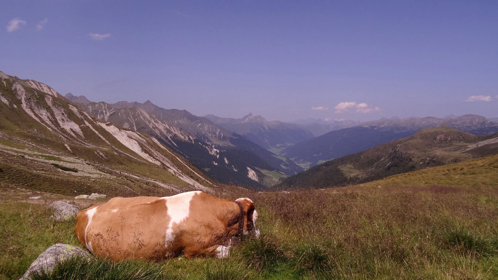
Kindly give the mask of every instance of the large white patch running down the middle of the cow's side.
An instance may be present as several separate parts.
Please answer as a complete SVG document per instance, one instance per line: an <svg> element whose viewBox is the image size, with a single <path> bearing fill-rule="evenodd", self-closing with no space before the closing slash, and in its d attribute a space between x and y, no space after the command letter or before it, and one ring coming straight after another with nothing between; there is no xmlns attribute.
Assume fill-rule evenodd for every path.
<svg viewBox="0 0 498 280"><path fill-rule="evenodd" d="M169 216L168 228L164 246L168 246L175 239L173 225L181 223L189 215L190 201L195 194L201 191L188 191L173 196L162 197L166 200L167 214Z"/></svg>

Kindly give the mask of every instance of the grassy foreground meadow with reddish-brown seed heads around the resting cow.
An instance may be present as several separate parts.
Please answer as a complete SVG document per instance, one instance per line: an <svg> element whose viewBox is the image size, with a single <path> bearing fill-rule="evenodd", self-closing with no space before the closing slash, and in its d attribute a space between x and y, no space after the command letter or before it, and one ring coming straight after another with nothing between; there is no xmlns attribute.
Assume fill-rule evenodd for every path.
<svg viewBox="0 0 498 280"><path fill-rule="evenodd" d="M497 166L490 156L398 175L412 176L392 181L403 187L387 178L380 188L251 193L260 240L233 248L229 260L153 266L178 279L496 279ZM441 177L417 184L422 176ZM49 210L15 195L0 194L0 279L17 279L56 242L76 244L74 223L51 222Z"/></svg>

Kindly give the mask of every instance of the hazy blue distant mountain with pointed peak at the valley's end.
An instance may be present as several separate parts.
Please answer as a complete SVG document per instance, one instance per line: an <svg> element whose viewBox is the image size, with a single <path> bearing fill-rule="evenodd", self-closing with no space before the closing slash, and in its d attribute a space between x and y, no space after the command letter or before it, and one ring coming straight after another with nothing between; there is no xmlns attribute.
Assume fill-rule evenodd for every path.
<svg viewBox="0 0 498 280"><path fill-rule="evenodd" d="M314 137L311 132L298 124L277 120L267 121L264 117L252 113L239 119L221 118L215 115L204 117L274 153Z"/></svg>

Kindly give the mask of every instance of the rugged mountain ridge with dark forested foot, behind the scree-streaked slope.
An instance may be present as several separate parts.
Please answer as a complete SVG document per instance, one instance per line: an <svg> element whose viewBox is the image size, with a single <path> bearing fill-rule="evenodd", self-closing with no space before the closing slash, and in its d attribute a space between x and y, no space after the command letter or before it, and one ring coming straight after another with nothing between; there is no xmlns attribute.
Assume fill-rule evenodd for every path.
<svg viewBox="0 0 498 280"><path fill-rule="evenodd" d="M302 171L294 162L186 110L164 109L150 101L78 105L95 117L155 137L222 184L262 189L279 183L268 173L285 177Z"/></svg>

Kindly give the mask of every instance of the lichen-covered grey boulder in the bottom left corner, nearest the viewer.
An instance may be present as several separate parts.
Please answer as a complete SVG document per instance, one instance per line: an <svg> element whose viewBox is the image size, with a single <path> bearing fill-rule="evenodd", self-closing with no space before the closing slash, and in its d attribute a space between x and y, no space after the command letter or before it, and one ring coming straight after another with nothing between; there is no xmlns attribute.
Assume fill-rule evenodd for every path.
<svg viewBox="0 0 498 280"><path fill-rule="evenodd" d="M42 270L51 272L55 265L72 257L84 257L90 259L87 251L69 244L57 243L48 247L38 258L29 266L29 269L19 280L31 280L31 274L40 273Z"/></svg>

